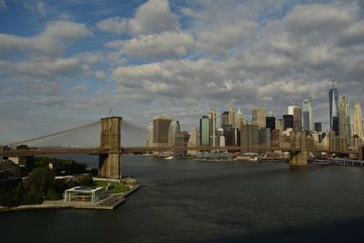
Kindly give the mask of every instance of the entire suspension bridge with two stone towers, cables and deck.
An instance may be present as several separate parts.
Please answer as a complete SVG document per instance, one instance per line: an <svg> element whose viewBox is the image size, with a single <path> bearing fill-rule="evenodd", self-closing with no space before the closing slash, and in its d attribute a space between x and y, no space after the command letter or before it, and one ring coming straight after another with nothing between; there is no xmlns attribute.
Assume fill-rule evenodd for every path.
<svg viewBox="0 0 364 243"><path fill-rule="evenodd" d="M39 140L49 139L51 137L60 137L66 134L72 134L81 129L89 127L101 126L100 142L98 147L31 147L30 149L5 149L8 146L23 145L33 143ZM164 152L176 150L195 150L204 151L212 149L227 149L229 151L287 151L291 154L290 164L292 166L306 166L308 164L308 152L326 152L348 155L349 151L332 151L320 147L310 146L312 141L306 136L305 132L292 132L288 137L288 146L281 147L278 141L272 141L269 146L254 146L254 147L210 147L210 146L195 146L195 147L126 147L122 146L122 129L126 129L130 134L139 133L147 136L148 129L141 127L133 122L122 119L119 116L111 116L101 118L101 120L88 123L86 125L73 127L61 132L48 134L41 137L34 137L22 141L7 144L0 150L0 157L26 157L26 156L42 156L42 155L60 155L60 154L90 154L98 155L99 165L98 174L100 177L108 177L120 179L122 177L122 154L140 154L147 152ZM129 139L130 136L125 136ZM146 137L147 138L147 137ZM94 138L92 138L94 139ZM146 139L144 140L146 141Z"/></svg>

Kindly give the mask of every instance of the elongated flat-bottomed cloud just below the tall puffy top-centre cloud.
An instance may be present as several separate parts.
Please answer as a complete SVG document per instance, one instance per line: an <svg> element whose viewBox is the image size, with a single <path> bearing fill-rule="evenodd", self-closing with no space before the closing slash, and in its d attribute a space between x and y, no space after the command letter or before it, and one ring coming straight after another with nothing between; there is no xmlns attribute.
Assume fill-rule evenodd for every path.
<svg viewBox="0 0 364 243"><path fill-rule="evenodd" d="M112 41L106 46L120 48L122 54L130 57L175 57L187 55L194 46L194 39L183 32L163 32L159 35L139 35L127 41Z"/></svg>

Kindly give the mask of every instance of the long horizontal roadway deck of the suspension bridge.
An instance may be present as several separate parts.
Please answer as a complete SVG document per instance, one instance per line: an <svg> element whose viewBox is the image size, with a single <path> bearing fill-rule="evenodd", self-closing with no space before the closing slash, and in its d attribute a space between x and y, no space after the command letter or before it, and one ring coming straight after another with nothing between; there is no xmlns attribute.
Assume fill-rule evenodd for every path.
<svg viewBox="0 0 364 243"><path fill-rule="evenodd" d="M163 151L176 151L176 150L217 150L227 149L229 151L287 151L287 152L299 152L299 148L295 147L120 147L118 151L120 154L136 154L147 152L163 152ZM326 152L329 154L343 154L349 155L350 151L332 151L329 149L309 149L308 152ZM32 148L29 150L0 150L0 157L26 157L26 156L42 156L42 155L67 155L67 154L90 154L101 155L115 153L115 151L109 151L106 148ZM116 151L117 153L117 151Z"/></svg>

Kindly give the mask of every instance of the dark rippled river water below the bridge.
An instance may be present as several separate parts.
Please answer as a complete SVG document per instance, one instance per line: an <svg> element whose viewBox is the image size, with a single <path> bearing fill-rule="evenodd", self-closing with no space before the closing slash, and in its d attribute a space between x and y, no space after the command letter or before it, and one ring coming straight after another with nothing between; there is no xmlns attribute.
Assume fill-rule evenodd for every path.
<svg viewBox="0 0 364 243"><path fill-rule="evenodd" d="M114 211L4 213L0 242L364 242L364 167L123 156L123 170L142 187Z"/></svg>

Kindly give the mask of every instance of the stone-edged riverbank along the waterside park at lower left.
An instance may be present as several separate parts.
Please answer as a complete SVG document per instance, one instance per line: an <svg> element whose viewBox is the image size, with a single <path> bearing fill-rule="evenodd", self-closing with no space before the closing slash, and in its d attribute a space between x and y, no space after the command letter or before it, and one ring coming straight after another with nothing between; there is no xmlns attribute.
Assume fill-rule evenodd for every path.
<svg viewBox="0 0 364 243"><path fill-rule="evenodd" d="M113 210L117 206L126 201L126 197L135 192L140 187L139 184L132 186L123 193L109 194L107 197L92 202L65 202L64 199L56 201L45 201L37 205L21 205L14 208L0 207L0 212L28 211L28 210L44 210L44 209L61 209L61 208L82 208L82 209L102 209Z"/></svg>

